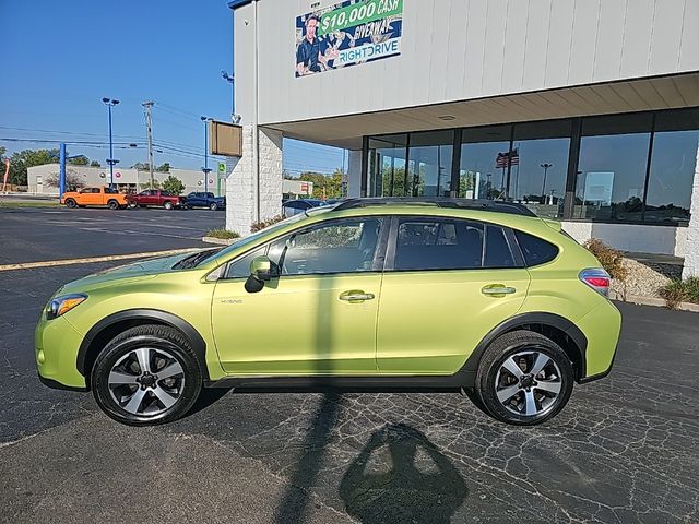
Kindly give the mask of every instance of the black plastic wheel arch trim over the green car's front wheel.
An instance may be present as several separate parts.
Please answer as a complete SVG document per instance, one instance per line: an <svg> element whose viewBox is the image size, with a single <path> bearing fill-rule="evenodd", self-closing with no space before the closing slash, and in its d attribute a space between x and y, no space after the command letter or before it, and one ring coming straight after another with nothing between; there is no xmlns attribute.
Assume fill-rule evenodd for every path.
<svg viewBox="0 0 699 524"><path fill-rule="evenodd" d="M76 367L80 374L85 377L85 364L87 359L87 349L92 345L95 337L102 333L105 329L114 325L118 322L129 320L152 320L161 324L166 324L179 330L192 345L192 349L199 359L201 366L202 376L204 380L209 380L209 368L206 367L206 343L199 334L199 332L186 320L177 317L176 314L168 313L167 311L161 311L158 309L127 309L105 317L83 337L83 342L78 349Z"/></svg>

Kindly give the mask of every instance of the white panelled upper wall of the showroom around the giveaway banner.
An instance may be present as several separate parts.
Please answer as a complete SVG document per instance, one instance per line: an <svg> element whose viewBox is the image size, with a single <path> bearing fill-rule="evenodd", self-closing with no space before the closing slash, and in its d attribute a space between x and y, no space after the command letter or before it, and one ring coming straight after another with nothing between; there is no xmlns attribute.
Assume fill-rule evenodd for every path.
<svg viewBox="0 0 699 524"><path fill-rule="evenodd" d="M236 10L246 123L256 110L265 124L699 70L697 0L404 0L400 57L297 79L295 20L311 3Z"/></svg>

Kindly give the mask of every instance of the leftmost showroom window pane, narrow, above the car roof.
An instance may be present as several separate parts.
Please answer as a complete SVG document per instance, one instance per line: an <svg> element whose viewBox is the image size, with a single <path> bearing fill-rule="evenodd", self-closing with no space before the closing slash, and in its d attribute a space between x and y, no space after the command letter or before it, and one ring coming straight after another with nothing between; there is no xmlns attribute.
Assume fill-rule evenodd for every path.
<svg viewBox="0 0 699 524"><path fill-rule="evenodd" d="M369 196L411 196L406 192L407 134L369 139Z"/></svg>

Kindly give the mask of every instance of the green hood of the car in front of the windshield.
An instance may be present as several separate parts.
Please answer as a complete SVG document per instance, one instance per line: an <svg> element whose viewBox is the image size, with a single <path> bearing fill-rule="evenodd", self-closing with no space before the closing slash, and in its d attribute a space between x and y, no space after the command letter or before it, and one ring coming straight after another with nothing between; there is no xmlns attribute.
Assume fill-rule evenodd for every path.
<svg viewBox="0 0 699 524"><path fill-rule="evenodd" d="M117 282L119 282L119 284L126 284L137 279L154 278L163 273L181 271L174 270L173 265L190 254L192 254L192 252L179 253L170 257L158 257L104 270L78 281L73 281L64 285L57 293L63 295L66 293L79 293L87 289L110 286Z"/></svg>

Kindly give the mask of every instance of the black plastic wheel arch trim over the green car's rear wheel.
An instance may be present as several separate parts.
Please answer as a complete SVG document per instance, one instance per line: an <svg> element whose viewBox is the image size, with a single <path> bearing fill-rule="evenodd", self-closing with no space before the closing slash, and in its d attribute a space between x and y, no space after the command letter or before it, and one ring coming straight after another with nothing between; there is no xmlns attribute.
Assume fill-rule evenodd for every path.
<svg viewBox="0 0 699 524"><path fill-rule="evenodd" d="M577 370L578 373L576 377L576 381L580 382L584 380L587 370L585 354L588 349L588 338L582 333L582 331L580 331L580 329L570 320L558 314L547 312L517 314L497 325L478 343L478 345L469 356L466 362L463 365L458 374L463 373L467 377L475 377L475 373L478 369L478 362L481 361L481 356L483 355L485 349L493 343L493 341L505 333L517 330L518 327L523 327L529 324L550 325L552 327L556 327L570 336L570 338L572 338L572 341L576 343L576 346L578 347L580 358L580 369Z"/></svg>

